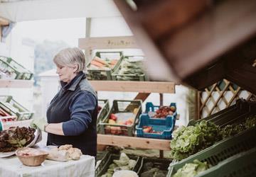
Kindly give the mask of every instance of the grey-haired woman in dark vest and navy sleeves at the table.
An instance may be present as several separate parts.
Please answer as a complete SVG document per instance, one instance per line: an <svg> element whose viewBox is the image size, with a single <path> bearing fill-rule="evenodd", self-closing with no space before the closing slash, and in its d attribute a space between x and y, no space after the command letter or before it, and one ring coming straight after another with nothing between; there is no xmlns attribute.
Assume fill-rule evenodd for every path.
<svg viewBox="0 0 256 177"><path fill-rule="evenodd" d="M53 59L60 78L60 91L45 119L35 119L32 127L48 132L47 145L72 144L82 154L97 154L97 95L84 74L85 55L75 48L61 50Z"/></svg>

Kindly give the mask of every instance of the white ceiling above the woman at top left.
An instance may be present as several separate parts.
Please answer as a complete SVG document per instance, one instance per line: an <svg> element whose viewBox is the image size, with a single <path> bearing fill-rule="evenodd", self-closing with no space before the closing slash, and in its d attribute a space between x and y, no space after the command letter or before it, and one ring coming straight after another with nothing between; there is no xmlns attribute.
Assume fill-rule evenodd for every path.
<svg viewBox="0 0 256 177"><path fill-rule="evenodd" d="M0 17L10 21L121 16L112 0L1 0Z"/></svg>

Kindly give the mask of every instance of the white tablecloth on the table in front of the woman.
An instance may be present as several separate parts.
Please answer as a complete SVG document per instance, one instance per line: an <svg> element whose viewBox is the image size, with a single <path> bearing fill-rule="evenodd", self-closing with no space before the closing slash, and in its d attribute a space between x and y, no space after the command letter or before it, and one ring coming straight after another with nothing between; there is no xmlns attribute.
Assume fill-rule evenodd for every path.
<svg viewBox="0 0 256 177"><path fill-rule="evenodd" d="M78 161L46 160L41 166L24 166L18 157L0 158L0 177L78 177L95 176L95 158L82 155Z"/></svg>

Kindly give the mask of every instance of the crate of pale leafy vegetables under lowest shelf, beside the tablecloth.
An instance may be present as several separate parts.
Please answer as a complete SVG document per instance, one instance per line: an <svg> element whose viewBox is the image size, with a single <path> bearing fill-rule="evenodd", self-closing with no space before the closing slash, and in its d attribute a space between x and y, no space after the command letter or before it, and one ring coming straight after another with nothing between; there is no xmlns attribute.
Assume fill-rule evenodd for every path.
<svg viewBox="0 0 256 177"><path fill-rule="evenodd" d="M97 177L112 176L117 170L132 170L137 172L141 166L142 157L121 154L111 154L108 152L100 161L99 166L95 170Z"/></svg>

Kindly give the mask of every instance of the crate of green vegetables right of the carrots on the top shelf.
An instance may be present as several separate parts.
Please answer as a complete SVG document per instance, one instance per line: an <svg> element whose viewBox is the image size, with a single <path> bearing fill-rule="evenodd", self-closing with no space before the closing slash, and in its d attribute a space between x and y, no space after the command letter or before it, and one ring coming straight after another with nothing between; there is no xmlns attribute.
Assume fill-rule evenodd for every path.
<svg viewBox="0 0 256 177"><path fill-rule="evenodd" d="M112 73L112 79L115 81L146 81L143 62L144 56L125 56Z"/></svg>

